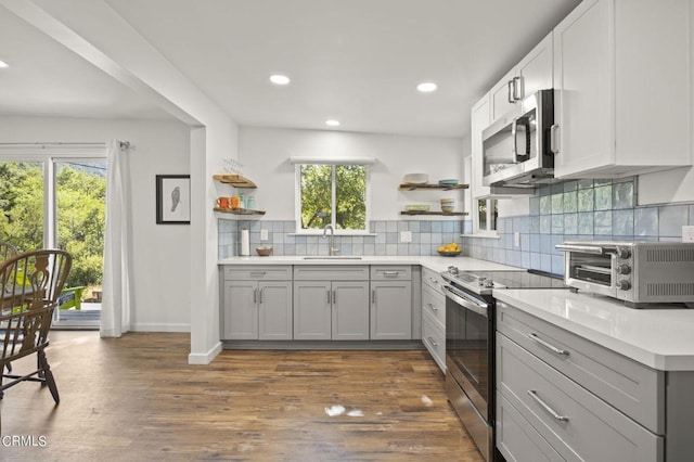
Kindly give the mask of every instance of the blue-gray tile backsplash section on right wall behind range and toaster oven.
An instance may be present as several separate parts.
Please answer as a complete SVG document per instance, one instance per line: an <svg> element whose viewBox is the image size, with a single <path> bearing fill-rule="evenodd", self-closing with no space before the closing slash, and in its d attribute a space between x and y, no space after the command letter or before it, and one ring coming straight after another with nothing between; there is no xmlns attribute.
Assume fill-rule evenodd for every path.
<svg viewBox="0 0 694 462"><path fill-rule="evenodd" d="M637 178L566 181L538 189L527 216L500 218L499 239L463 236L471 257L564 273L564 241L681 241L694 205L637 206ZM518 245L515 245L518 233Z"/></svg>

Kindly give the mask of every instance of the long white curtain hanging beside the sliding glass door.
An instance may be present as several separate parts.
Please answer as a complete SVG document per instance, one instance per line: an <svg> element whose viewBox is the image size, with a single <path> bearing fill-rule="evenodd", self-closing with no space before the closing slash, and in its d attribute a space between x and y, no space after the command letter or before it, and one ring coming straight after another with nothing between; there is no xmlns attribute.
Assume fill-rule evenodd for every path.
<svg viewBox="0 0 694 462"><path fill-rule="evenodd" d="M101 301L102 337L119 337L130 330L132 259L130 252L130 169L127 143L106 143L106 233Z"/></svg>

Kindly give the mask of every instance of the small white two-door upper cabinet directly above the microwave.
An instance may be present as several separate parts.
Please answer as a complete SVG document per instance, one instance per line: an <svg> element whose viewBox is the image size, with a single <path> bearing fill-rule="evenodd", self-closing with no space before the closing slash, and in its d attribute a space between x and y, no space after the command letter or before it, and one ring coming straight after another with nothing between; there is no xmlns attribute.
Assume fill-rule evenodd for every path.
<svg viewBox="0 0 694 462"><path fill-rule="evenodd" d="M552 33L489 91L490 123L515 111L538 90L552 88Z"/></svg>

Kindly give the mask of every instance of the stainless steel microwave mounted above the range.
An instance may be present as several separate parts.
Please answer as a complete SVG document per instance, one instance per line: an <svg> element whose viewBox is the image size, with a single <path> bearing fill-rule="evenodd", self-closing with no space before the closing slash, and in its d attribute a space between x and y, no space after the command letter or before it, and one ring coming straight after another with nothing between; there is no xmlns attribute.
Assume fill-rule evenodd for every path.
<svg viewBox="0 0 694 462"><path fill-rule="evenodd" d="M554 181L554 90L540 90L483 131L483 184L535 188Z"/></svg>

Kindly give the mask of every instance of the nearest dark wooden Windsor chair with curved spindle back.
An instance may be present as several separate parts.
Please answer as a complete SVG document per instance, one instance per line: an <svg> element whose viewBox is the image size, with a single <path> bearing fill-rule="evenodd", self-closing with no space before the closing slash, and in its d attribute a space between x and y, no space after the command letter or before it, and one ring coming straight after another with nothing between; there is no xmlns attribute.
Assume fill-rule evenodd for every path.
<svg viewBox="0 0 694 462"><path fill-rule="evenodd" d="M46 347L72 261L64 251L44 249L20 254L0 265L0 399L5 389L30 381L48 385L55 403L60 402ZM35 371L11 373L13 361L35 352Z"/></svg>

